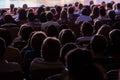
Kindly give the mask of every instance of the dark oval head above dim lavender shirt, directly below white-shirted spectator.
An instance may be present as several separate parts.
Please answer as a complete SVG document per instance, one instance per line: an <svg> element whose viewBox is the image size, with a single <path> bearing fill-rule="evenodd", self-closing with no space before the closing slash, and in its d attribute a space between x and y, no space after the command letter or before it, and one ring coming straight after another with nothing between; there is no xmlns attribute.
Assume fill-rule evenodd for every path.
<svg viewBox="0 0 120 80"><path fill-rule="evenodd" d="M83 36L91 36L93 33L93 27L89 22L83 22L80 31Z"/></svg>

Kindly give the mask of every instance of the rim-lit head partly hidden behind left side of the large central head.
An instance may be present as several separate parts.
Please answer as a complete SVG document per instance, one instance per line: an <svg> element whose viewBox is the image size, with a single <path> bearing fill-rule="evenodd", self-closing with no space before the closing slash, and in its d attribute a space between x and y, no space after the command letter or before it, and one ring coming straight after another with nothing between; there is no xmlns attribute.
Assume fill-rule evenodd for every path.
<svg viewBox="0 0 120 80"><path fill-rule="evenodd" d="M30 45L31 45L32 49L33 50L41 50L42 43L46 37L47 37L47 35L42 31L35 32L32 35L31 41L30 41Z"/></svg>

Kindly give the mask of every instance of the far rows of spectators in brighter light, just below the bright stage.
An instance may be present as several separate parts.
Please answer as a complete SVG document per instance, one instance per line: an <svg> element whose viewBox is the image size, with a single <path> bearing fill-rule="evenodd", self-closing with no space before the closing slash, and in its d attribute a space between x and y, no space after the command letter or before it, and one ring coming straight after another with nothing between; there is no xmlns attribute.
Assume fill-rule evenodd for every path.
<svg viewBox="0 0 120 80"><path fill-rule="evenodd" d="M48 26L46 22L49 24L54 23L54 25L58 25L58 23L67 24L69 22L79 24L83 21L96 22L97 20L110 20L114 22L119 19L120 3L114 3L114 5L109 3L107 6L103 4L100 6L96 6L95 4L86 6L76 3L75 5L55 6L52 8L42 5L37 11L31 8L18 8L14 15L10 11L1 10L0 25L1 27L10 27L10 25L12 25L11 27L19 27L24 23L28 23L33 27L41 25L44 29L46 25ZM11 6L10 10L13 10L14 5Z"/></svg>

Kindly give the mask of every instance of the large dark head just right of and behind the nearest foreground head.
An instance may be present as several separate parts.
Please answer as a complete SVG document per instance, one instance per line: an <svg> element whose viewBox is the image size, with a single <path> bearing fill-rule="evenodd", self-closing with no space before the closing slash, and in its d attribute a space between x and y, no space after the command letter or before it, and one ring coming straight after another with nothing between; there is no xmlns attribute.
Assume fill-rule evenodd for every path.
<svg viewBox="0 0 120 80"><path fill-rule="evenodd" d="M95 35L90 41L91 52L94 53L94 55L105 56L104 52L107 48L107 45L107 40L102 35Z"/></svg>

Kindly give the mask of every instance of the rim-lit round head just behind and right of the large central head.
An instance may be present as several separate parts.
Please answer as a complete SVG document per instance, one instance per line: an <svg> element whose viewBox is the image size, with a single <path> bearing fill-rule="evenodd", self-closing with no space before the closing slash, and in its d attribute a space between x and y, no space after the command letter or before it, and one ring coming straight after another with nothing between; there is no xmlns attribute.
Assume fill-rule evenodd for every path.
<svg viewBox="0 0 120 80"><path fill-rule="evenodd" d="M71 29L63 29L58 36L61 43L64 45L65 43L74 42L75 41L75 33Z"/></svg>

